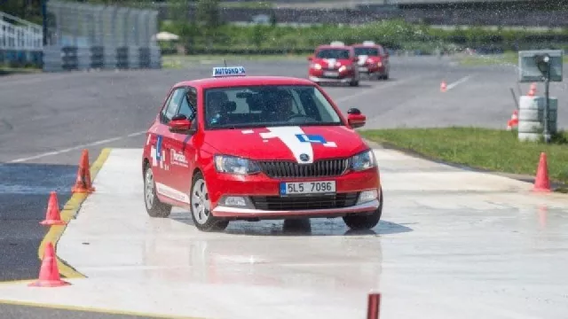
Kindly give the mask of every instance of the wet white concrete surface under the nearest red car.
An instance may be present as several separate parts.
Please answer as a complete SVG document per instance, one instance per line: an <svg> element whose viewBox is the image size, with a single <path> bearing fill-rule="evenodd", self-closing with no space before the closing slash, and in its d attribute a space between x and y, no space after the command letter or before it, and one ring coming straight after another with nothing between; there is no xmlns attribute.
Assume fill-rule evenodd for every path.
<svg viewBox="0 0 568 319"><path fill-rule="evenodd" d="M60 258L87 278L59 288L0 284L0 302L202 318L561 318L568 314L568 197L401 152L375 150L383 221L233 222L147 216L140 149L114 149Z"/></svg>

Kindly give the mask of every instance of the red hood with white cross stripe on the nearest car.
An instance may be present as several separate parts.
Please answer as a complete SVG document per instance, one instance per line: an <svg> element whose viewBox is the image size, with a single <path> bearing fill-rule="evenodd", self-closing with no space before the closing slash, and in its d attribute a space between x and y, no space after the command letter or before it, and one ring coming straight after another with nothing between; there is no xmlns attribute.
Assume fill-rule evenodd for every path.
<svg viewBox="0 0 568 319"><path fill-rule="evenodd" d="M368 148L357 132L344 126L209 130L204 142L220 154L301 163L347 158ZM301 159L305 159L305 155L308 159Z"/></svg>

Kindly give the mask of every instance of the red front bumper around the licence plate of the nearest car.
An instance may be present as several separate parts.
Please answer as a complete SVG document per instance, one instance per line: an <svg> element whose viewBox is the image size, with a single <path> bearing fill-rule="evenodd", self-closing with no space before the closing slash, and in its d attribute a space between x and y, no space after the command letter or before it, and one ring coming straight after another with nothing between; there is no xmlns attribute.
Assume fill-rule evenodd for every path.
<svg viewBox="0 0 568 319"><path fill-rule="evenodd" d="M371 213L379 207L383 195L378 168L319 178L272 178L264 174L244 177L217 172L209 172L205 178L213 207L211 213L217 217L278 219ZM335 193L280 196L280 183L316 181L334 181ZM374 191L376 197L369 196ZM233 204L225 201L227 198L231 198ZM238 199L241 204L235 204L235 198L242 198Z"/></svg>

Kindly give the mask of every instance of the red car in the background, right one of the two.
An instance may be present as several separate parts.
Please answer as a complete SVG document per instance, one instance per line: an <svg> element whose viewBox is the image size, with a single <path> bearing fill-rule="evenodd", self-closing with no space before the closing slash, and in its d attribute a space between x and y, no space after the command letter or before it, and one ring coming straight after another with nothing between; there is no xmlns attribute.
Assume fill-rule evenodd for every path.
<svg viewBox="0 0 568 319"><path fill-rule="evenodd" d="M351 45L358 57L359 72L370 77L376 76L378 80L388 80L390 63L389 53L383 46L372 41L365 41Z"/></svg>

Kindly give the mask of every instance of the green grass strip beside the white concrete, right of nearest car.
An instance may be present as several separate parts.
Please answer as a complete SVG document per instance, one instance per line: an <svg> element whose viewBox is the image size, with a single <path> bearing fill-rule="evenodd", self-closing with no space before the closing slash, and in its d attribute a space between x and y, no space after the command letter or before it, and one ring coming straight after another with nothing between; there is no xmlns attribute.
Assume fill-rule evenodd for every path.
<svg viewBox="0 0 568 319"><path fill-rule="evenodd" d="M568 183L567 132L559 132L550 144L521 142L515 130L490 128L392 128L361 130L360 134L430 159L517 175L534 176L540 153L546 152L551 181Z"/></svg>

